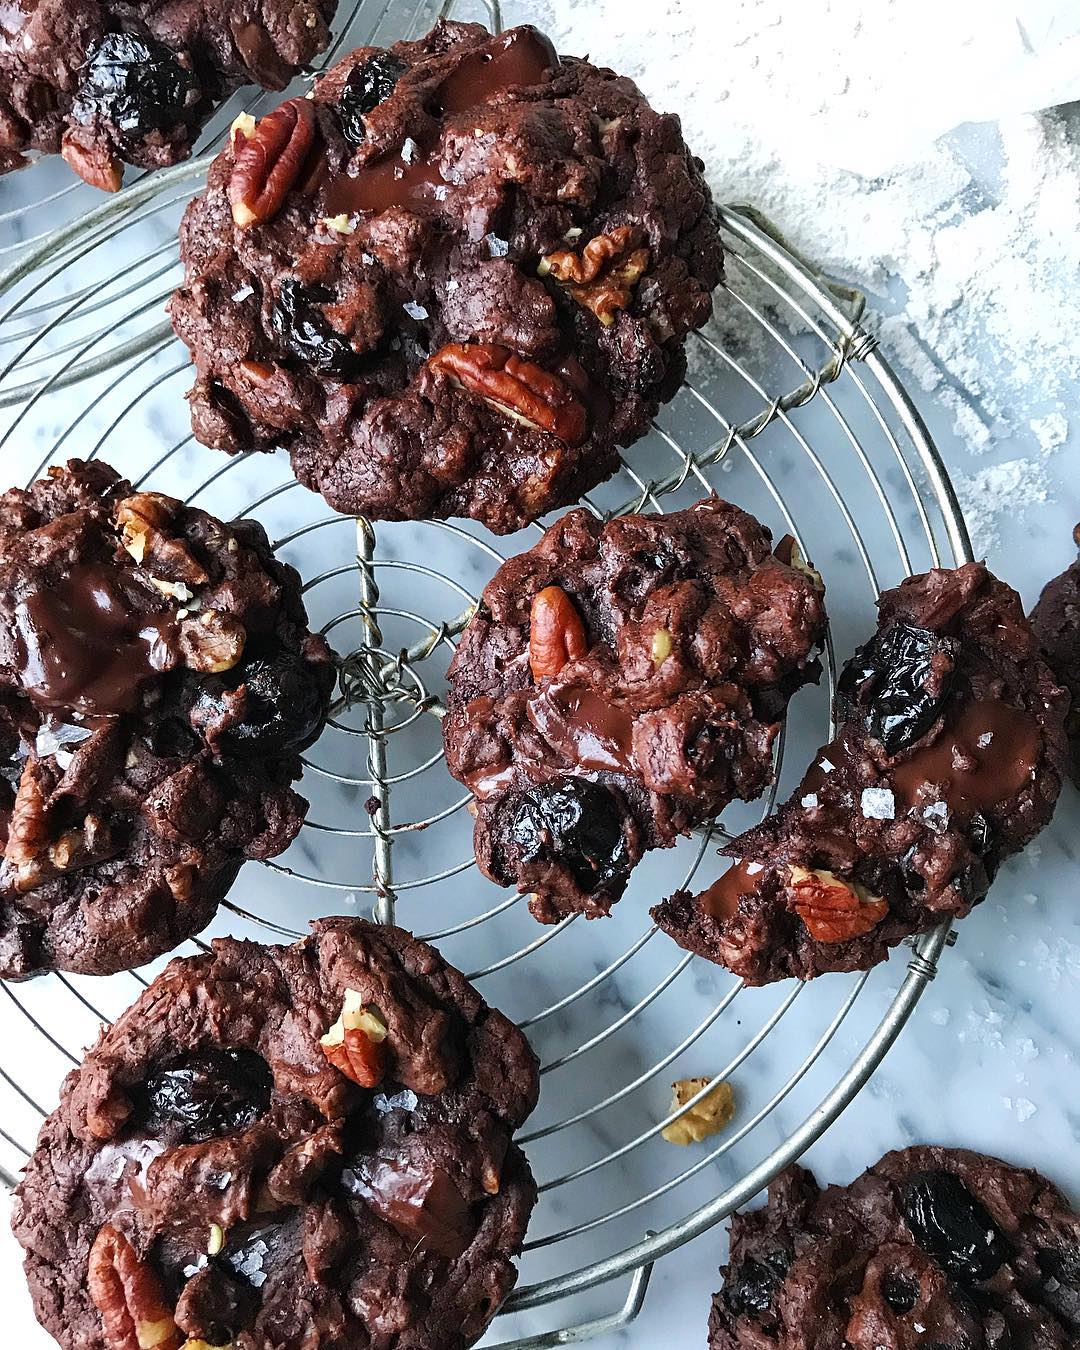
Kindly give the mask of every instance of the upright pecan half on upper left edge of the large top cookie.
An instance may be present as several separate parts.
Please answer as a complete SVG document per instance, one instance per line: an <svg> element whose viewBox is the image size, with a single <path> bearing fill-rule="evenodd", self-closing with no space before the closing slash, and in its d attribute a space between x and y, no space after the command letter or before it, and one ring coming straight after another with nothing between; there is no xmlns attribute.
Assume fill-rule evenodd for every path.
<svg viewBox="0 0 1080 1350"><path fill-rule="evenodd" d="M289 99L262 117L250 136L234 135L228 200L240 230L273 220L281 211L305 177L315 134L312 100Z"/></svg>

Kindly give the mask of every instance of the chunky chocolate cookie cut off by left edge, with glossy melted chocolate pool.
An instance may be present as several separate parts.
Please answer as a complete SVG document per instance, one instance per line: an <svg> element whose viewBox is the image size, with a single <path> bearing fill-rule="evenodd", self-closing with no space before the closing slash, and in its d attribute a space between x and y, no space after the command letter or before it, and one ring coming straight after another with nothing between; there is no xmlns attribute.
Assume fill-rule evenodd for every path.
<svg viewBox="0 0 1080 1350"><path fill-rule="evenodd" d="M0 497L0 976L140 965L281 853L333 666L262 526L101 463Z"/></svg>

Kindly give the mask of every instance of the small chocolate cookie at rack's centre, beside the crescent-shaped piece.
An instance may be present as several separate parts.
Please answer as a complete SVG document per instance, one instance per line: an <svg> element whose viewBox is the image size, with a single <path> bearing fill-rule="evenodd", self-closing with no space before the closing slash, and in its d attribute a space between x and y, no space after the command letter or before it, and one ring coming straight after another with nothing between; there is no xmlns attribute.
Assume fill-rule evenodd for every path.
<svg viewBox="0 0 1080 1350"><path fill-rule="evenodd" d="M606 914L645 849L771 782L825 610L770 543L716 497L606 525L574 510L485 589L450 667L447 767L475 794L482 871L535 892L541 922Z"/></svg>

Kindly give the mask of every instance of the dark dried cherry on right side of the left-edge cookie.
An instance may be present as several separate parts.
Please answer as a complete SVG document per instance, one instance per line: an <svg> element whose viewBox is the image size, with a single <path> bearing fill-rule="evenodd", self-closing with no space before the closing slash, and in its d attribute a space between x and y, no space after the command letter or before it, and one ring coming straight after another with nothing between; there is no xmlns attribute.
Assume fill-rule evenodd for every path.
<svg viewBox="0 0 1080 1350"><path fill-rule="evenodd" d="M256 656L201 682L190 718L217 753L281 755L310 744L327 716L304 662Z"/></svg>

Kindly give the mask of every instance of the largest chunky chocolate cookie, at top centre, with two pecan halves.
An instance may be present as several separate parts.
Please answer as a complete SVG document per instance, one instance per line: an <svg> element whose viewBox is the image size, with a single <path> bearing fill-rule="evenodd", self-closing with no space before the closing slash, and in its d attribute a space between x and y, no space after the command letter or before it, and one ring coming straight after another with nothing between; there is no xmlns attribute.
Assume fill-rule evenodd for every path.
<svg viewBox="0 0 1080 1350"><path fill-rule="evenodd" d="M239 130L181 254L204 444L500 533L614 473L721 277L678 117L535 28L446 22Z"/></svg>

